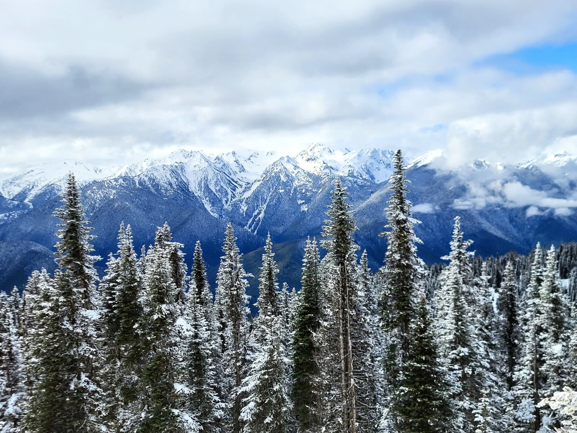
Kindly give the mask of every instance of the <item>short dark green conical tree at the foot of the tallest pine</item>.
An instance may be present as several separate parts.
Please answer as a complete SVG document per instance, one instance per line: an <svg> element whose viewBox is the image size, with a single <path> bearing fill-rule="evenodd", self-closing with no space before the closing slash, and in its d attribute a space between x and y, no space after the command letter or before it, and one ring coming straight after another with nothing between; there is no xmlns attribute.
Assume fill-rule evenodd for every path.
<svg viewBox="0 0 577 433"><path fill-rule="evenodd" d="M440 433L447 431L448 401L443 368L433 342L434 335L425 300L415 306L410 320L409 346L403 356L402 373L392 395L397 431Z"/></svg>

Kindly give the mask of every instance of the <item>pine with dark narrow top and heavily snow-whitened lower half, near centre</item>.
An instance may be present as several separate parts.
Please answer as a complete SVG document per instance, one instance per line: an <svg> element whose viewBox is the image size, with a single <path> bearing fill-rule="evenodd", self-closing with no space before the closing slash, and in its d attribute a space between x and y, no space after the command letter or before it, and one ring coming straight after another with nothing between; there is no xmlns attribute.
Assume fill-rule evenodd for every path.
<svg viewBox="0 0 577 433"><path fill-rule="evenodd" d="M283 318L285 300L280 298L270 233L264 247L260 268L260 295L256 302L258 316L250 336L254 352L243 391L245 406L241 417L247 433L284 433L292 409L288 369L288 327Z"/></svg>

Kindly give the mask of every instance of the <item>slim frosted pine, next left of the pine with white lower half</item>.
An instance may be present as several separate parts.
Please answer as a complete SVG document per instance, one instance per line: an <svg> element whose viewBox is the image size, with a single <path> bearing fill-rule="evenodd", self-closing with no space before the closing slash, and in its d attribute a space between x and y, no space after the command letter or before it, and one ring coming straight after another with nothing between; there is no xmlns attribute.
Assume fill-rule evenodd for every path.
<svg viewBox="0 0 577 433"><path fill-rule="evenodd" d="M245 272L242 255L234 237L233 225L224 232L223 256L217 274L215 307L219 320L223 353L223 394L228 395L227 421L233 433L241 431L242 380L246 374L249 337L249 296L246 294L252 275Z"/></svg>

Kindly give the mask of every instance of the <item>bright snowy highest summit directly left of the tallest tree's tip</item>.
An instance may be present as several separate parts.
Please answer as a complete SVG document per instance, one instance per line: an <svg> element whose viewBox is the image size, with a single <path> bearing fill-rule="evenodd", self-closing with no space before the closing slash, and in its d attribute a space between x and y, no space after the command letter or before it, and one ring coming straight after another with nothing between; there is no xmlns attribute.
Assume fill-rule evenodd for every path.
<svg viewBox="0 0 577 433"><path fill-rule="evenodd" d="M314 143L299 152L296 160L303 169L315 174L330 173L380 183L391 176L393 155L391 150L350 151Z"/></svg>

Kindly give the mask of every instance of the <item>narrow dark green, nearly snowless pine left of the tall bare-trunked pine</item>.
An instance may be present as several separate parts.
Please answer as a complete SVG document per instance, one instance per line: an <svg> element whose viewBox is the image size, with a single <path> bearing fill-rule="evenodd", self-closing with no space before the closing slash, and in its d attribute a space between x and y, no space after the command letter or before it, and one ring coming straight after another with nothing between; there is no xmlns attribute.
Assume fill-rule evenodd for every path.
<svg viewBox="0 0 577 433"><path fill-rule="evenodd" d="M315 337L321 320L319 262L317 241L307 238L293 337L293 402L301 432L315 431L321 423L319 342Z"/></svg>

